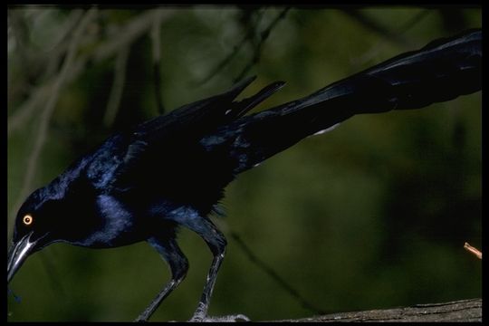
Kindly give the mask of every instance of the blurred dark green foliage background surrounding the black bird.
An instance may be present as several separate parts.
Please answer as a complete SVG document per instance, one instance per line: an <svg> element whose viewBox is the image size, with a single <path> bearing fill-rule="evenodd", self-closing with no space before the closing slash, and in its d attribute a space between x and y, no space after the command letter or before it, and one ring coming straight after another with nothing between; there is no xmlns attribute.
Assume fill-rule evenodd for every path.
<svg viewBox="0 0 489 326"><path fill-rule="evenodd" d="M101 60L94 55L104 44L129 39L120 33L124 27L144 23L141 17L155 10L99 10L77 53L89 59L80 72L69 72L59 91L29 191L114 130L158 114L151 24L128 42L120 105L110 125L103 117L123 48ZM163 10L160 92L171 110L231 86L254 57L260 33L283 8ZM39 117L52 93L45 91L27 117L10 127L19 122L26 102L59 73L82 15L76 13L55 6L8 10L7 244L39 137ZM244 96L268 82L287 81L258 109L263 110L433 39L479 27L481 21L478 8L292 8L262 44L258 62L247 73L258 79ZM202 82L243 39L229 64ZM227 216L216 223L225 234L240 235L254 254L325 312L480 297L481 262L463 245L482 245L481 107L478 92L422 110L356 116L238 177L223 200ZM153 321L187 320L204 286L211 260L206 245L187 230L179 238L190 271ZM259 321L313 314L228 238L211 315L239 312ZM156 251L144 243L110 250L51 245L29 258L10 284L22 301L8 296L8 320L130 321L168 276Z"/></svg>

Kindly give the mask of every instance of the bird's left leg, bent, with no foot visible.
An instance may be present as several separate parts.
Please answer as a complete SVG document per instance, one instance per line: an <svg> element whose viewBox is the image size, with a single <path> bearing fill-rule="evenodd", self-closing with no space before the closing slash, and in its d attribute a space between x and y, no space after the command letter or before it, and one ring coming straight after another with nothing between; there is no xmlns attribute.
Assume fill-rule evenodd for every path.
<svg viewBox="0 0 489 326"><path fill-rule="evenodd" d="M171 280L135 321L148 321L153 312L157 310L159 304L163 302L168 294L183 281L188 270L187 257L181 252L175 239L159 239L152 237L148 239L148 243L149 245L152 245L168 263L171 270Z"/></svg>

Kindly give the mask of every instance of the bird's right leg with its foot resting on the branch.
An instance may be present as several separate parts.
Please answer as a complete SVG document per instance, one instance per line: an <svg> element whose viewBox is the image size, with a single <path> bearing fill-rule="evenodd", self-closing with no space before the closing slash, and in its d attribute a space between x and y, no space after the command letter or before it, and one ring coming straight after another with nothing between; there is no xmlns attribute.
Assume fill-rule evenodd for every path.
<svg viewBox="0 0 489 326"><path fill-rule="evenodd" d="M217 272L221 266L225 256L225 236L216 228L216 225L212 224L206 217L199 219L198 221L192 220L190 223L185 224L189 229L200 235L206 244L209 246L214 258L212 260L209 273L207 274L206 285L204 286L204 292L198 302L197 310L190 321L250 321L248 317L243 314L209 317L207 316L207 310L209 302L216 283Z"/></svg>

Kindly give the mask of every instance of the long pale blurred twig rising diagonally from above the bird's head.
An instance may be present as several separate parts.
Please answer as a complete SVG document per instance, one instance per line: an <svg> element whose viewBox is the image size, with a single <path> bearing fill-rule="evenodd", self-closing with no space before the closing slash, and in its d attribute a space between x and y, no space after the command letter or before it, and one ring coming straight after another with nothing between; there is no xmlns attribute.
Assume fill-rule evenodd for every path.
<svg viewBox="0 0 489 326"><path fill-rule="evenodd" d="M37 130L37 136L35 137L34 149L31 152L30 157L27 160L27 167L25 168L25 176L24 182L21 187L21 191L13 210L9 216L9 220L13 220L15 216L15 212L19 206L24 202L24 197L27 196L28 192L31 190L35 169L37 167L37 161L41 150L43 149L44 141L46 139L47 130L49 126L49 121L51 120L51 116L53 115L54 106L58 100L59 91L62 88L63 83L66 80L66 76L72 69L72 63L74 60L74 56L78 50L78 45L82 38L83 31L86 26L91 22L95 14L97 13L96 8L91 8L86 14L83 15L82 21L77 27L77 29L73 32L72 41L70 42L70 46L68 48L68 53L66 55L66 59L63 62L61 72L58 74L56 78L53 89L51 90L51 96L49 97L44 110L39 118L39 129Z"/></svg>

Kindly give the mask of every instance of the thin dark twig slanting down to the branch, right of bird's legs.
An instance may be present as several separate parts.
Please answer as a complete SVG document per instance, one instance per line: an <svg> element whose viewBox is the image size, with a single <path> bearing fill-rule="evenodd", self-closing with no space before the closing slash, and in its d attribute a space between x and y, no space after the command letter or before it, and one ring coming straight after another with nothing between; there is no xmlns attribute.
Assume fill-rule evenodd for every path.
<svg viewBox="0 0 489 326"><path fill-rule="evenodd" d="M311 311L312 313L324 314L324 312L321 309L316 308L311 302L308 302L306 299L304 299L302 297L302 295L299 294L299 292L297 290L292 288L292 286L289 283L287 283L285 280L283 280L283 278L278 273L273 271L273 269L271 267L269 267L260 258L258 258L253 253L253 251L250 248L248 248L248 246L245 244L245 242L243 240L241 240L239 235L235 234L235 232L230 232L230 235L233 239L235 239L235 242L240 246L241 250L243 250L245 252L246 256L248 256L248 259L253 264L257 265L261 270L263 270L264 273L267 273L273 279L273 281L278 283L283 288L283 290L285 290L286 292L289 292L289 294L297 302L301 303L303 308Z"/></svg>

